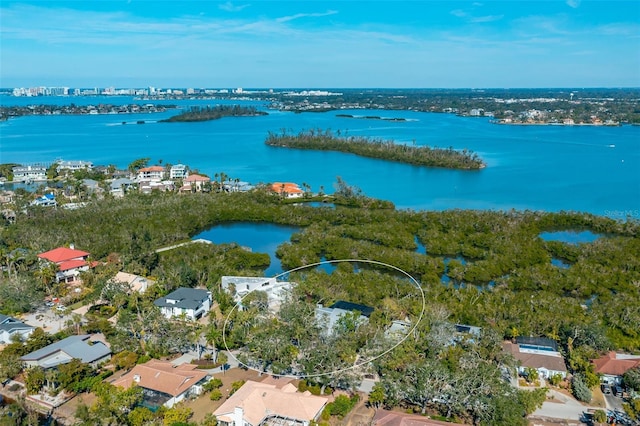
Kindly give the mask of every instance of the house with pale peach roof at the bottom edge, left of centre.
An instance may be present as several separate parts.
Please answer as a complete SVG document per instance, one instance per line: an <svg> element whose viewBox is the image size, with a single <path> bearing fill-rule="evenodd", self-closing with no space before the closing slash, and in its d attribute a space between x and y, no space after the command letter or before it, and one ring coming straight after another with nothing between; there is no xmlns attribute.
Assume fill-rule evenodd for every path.
<svg viewBox="0 0 640 426"><path fill-rule="evenodd" d="M317 421L329 399L298 392L291 383L282 387L248 380L213 414L221 426L308 426Z"/></svg>

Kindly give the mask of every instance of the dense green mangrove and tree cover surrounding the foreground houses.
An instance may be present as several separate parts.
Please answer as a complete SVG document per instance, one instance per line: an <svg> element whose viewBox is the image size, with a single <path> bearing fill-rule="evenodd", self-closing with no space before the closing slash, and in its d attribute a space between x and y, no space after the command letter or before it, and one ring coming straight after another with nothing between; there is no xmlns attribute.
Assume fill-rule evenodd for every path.
<svg viewBox="0 0 640 426"><path fill-rule="evenodd" d="M156 249L234 221L298 226L290 242L277 250L286 268L323 258L365 259L392 264L420 282L428 303L415 335L367 366L367 372L382 377L374 395L379 404L403 405L477 424L520 424L539 398L518 394L501 378L500 366L507 362L499 345L503 337L555 339L568 356L570 370L585 385L597 380L589 359L599 352L640 349L636 326L640 323L640 226L588 214L413 212L339 205L325 209L290 205L263 191L130 194L121 200L90 202L78 210L21 215L15 224L3 228L0 252L21 250L26 259L28 253L74 242L95 259L107 260L104 271L96 269L87 275L87 285L119 307L118 322L113 326L96 316L89 318L86 329L103 331L116 352L127 349L136 356L161 356L194 347L199 336L220 347L222 321L212 320L204 329L168 322L153 306L156 297L181 285L205 286L225 315L234 303L221 292L220 276L259 276L269 259L235 244L190 244L161 253ZM557 229L590 229L603 237L577 245L539 237L542 231ZM570 266L555 267L552 257L561 257ZM14 260L2 258L4 265ZM3 303L12 295L21 300L20 293L29 291L27 283L42 286L35 266L20 261L19 267L14 262L7 268L10 272L0 282ZM104 282L111 267L146 271L158 285L144 295L119 298L117 289ZM442 282L443 274L451 284ZM247 310L232 315L227 342L244 347L245 359L258 368L287 372L306 353L313 356L300 358L304 362L296 368L301 371L353 365L380 349L377 337L391 320L413 320L421 309L421 298L410 282L380 266L352 262L336 265L331 274L305 269L290 275L290 281L299 283L295 300L305 303L283 305L280 317L273 318L266 314L264 297L256 294L247 300ZM323 343L313 308L315 303L329 305L339 299L373 306L375 311L367 327L358 327L343 339L324 338ZM294 318L307 322L296 324ZM482 337L452 342L455 323L482 327ZM44 343L41 334L34 333L24 347L10 344L2 359L15 360L22 348ZM303 337L315 346L305 346ZM10 362L2 367L3 372L5 368L12 371ZM358 374L362 372L316 378L311 385L348 388ZM133 412L140 419L147 415ZM131 423L129 414L118 417L119 421ZM112 415L120 416L105 412Z"/></svg>

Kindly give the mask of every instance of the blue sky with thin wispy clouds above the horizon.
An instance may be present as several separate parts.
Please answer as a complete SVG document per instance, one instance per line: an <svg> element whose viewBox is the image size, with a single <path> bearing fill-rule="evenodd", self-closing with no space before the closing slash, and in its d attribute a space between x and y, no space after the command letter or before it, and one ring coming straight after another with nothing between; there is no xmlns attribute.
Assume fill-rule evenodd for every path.
<svg viewBox="0 0 640 426"><path fill-rule="evenodd" d="M639 87L640 1L0 2L0 87Z"/></svg>

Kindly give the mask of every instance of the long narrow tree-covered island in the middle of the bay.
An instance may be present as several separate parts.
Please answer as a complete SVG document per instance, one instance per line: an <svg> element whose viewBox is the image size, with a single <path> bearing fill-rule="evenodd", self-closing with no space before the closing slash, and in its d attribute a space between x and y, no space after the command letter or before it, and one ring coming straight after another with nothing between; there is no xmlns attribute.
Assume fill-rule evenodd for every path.
<svg viewBox="0 0 640 426"><path fill-rule="evenodd" d="M446 149L431 148L401 145L390 140L354 136L341 137L340 133L334 135L331 130L311 129L297 135L287 134L286 130L283 130L281 134L269 132L265 143L274 147L347 152L416 166L463 170L478 170L486 167L484 161L476 153L466 149L456 151L451 147Z"/></svg>

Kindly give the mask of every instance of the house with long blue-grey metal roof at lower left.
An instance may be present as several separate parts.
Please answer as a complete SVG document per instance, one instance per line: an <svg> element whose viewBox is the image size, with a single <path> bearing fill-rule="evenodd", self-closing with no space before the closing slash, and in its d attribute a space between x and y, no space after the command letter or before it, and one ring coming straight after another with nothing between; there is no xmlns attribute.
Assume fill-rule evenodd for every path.
<svg viewBox="0 0 640 426"><path fill-rule="evenodd" d="M79 359L85 364L97 367L111 359L111 349L99 334L69 336L20 358L27 367L53 368Z"/></svg>

